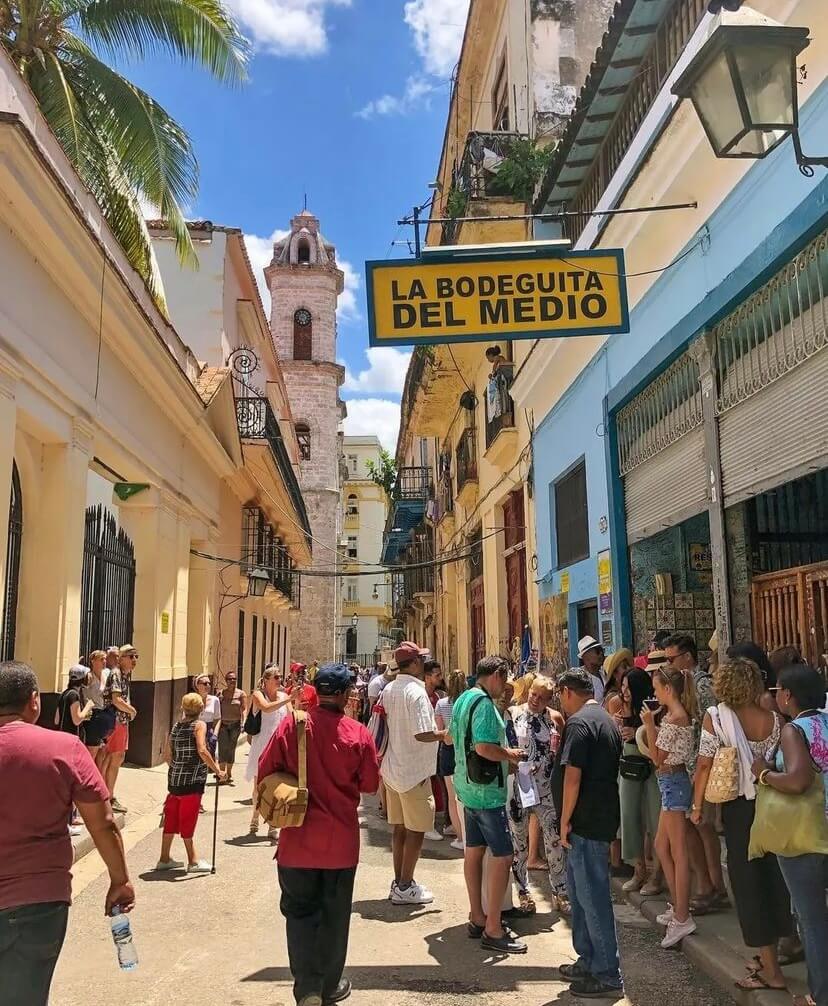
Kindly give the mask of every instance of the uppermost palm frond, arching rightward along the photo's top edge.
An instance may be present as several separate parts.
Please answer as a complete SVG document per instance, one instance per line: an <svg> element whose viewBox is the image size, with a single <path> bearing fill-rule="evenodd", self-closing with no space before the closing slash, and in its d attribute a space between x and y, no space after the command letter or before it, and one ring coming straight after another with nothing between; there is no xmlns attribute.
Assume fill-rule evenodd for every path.
<svg viewBox="0 0 828 1006"><path fill-rule="evenodd" d="M74 0L82 34L110 53L145 57L159 49L217 79L246 79L247 42L222 0Z"/></svg>

